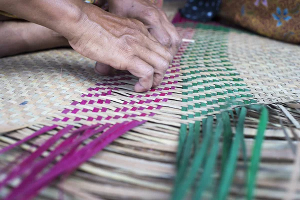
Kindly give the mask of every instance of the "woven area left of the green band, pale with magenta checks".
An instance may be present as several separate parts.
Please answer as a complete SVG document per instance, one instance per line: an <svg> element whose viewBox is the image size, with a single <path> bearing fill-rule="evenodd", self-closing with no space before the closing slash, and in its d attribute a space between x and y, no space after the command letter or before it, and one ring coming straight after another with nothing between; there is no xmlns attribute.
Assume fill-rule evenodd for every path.
<svg viewBox="0 0 300 200"><path fill-rule="evenodd" d="M188 36L190 31L184 31ZM180 80L178 74L171 74L179 71L175 61L161 86L147 94L138 94L133 92L136 78L132 75L120 73L101 78L92 70L93 61L71 50L17 56L12 63L10 61L11 58L1 60L6 70L1 76L1 108L4 108L1 124L45 121L47 117L57 122L67 121L69 117L72 121L85 119L88 123L102 118L149 116L154 114L151 114L152 109L160 109L161 103L175 91L171 84ZM15 68L15 65L20 67ZM102 80L98 81L99 78ZM15 84L15 80L19 84ZM144 100L145 97L148 99ZM87 111L89 117L85 117Z"/></svg>

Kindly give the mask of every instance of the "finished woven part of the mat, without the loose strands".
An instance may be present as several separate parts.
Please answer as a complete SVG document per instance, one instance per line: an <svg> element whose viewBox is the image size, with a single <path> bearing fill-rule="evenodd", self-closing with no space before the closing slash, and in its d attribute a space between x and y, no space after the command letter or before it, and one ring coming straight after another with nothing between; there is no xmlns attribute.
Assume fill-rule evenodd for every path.
<svg viewBox="0 0 300 200"><path fill-rule="evenodd" d="M181 30L187 38L193 32L191 28ZM176 101L186 99L183 89L197 90L194 100L202 103L205 111L218 111L229 99L269 103L299 98L298 46L227 32L225 28L215 31L213 26L197 29L197 42L183 43L162 84L146 94L132 91L136 78L128 73L95 75L93 62L71 50L3 58L0 124L23 125L49 117L59 122L135 116L147 119L154 113L164 115L162 106L180 110ZM227 44L228 36L232 39ZM274 50L272 46L276 46Z"/></svg>

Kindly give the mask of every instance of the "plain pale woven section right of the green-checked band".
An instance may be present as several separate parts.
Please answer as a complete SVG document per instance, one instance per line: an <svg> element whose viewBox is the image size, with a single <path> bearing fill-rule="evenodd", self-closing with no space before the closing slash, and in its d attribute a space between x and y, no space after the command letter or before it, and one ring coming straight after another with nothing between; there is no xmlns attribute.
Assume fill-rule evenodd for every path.
<svg viewBox="0 0 300 200"><path fill-rule="evenodd" d="M254 96L264 102L300 98L299 45L230 32L228 58Z"/></svg>

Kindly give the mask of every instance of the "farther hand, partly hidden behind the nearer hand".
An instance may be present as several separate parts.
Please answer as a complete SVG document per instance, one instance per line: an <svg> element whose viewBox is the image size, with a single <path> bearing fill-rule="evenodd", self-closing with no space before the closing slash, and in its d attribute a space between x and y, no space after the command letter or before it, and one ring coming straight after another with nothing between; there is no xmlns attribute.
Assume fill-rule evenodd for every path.
<svg viewBox="0 0 300 200"><path fill-rule="evenodd" d="M162 45L168 47L174 56L181 44L181 37L174 25L167 19L164 11L149 0L108 0L109 12L126 18L134 18L148 28L148 31ZM113 71L112 67L96 63L95 71L107 75Z"/></svg>

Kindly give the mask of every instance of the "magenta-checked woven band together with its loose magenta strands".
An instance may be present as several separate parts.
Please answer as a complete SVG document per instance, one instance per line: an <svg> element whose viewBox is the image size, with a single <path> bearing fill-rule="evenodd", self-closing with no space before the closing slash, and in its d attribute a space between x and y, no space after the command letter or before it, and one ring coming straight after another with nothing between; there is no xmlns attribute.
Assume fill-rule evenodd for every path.
<svg viewBox="0 0 300 200"><path fill-rule="evenodd" d="M190 38L194 30L184 32L184 38ZM81 94L82 97L78 101L73 101L68 108L61 110L59 117L54 118L53 121L94 121L94 120L113 120L118 118L130 118L130 117L144 117L144 116L153 116L155 115L155 109L161 109L161 105L157 105L158 102L166 102L168 97L173 95L173 90L176 88L173 86L173 83L177 83L179 71L179 56L183 54L187 44L182 44L180 47L176 58L172 61L170 69L166 72L164 77L164 82L159 86L159 88L152 88L147 94L141 93L136 95L129 95L126 98L126 101L122 104L129 107L117 106L111 110L111 107L114 106L105 106L99 107L99 104L109 104L113 101L109 99L104 99L105 96L113 95L114 92L117 92L118 85L125 85L126 83L122 80L132 80L132 77L127 75L120 74L115 75L114 77L104 77L105 80L101 83L96 83L93 87L87 89L87 92ZM114 81L114 82L112 82ZM115 82L118 81L118 82ZM129 93L130 94L130 93ZM91 99L92 97L92 99ZM97 99L96 97L101 97L102 99ZM146 97L146 98L145 98ZM130 99L131 98L131 99ZM97 104L94 104L97 103ZM93 106L94 104L94 106ZM115 104L115 102L113 102ZM85 106L84 106L85 105ZM82 106L86 108L82 108ZM70 108L72 107L72 108ZM135 113L130 113L129 110L135 111ZM87 116L80 118L74 116L80 112L88 112L93 116ZM114 115L110 114L114 111ZM129 113L126 113L129 111ZM105 113L105 116L96 116L97 112L109 112ZM118 114L116 112L120 112ZM86 114L85 114L86 115ZM122 116L123 115L123 116ZM133 127L143 123L145 121L126 121L122 123L111 124L95 124L92 126L82 125L75 131L71 131L72 126L67 126L64 129L58 131L55 135L50 137L46 142L39 146L31 155L27 156L21 163L17 164L17 167L12 167L12 170L9 171L8 176L6 176L5 181L0 184L0 187L6 184L9 180L14 177L23 177L21 183L11 189L11 192L5 199L29 199L34 197L37 192L44 186L48 185L54 178L62 175L63 178L67 177L73 170L75 170L81 163L88 160L95 153L102 150L106 145L112 142L114 139L124 134L126 131L132 129ZM30 138L33 138L34 135L37 136L48 130L54 129L56 125L50 127L41 128L39 131L36 131L33 135L26 137L25 139L13 144L12 147L21 144L22 142L27 141ZM104 131L104 132L103 132ZM98 136L94 136L97 133L101 133ZM70 133L70 135L62 141L54 150L50 151L48 156L41 157L42 152L50 148L62 135L65 133ZM81 143L93 136L92 141L87 143L85 146L81 147ZM95 137L95 138L94 138ZM12 148L11 147L11 148ZM7 147L6 147L7 148ZM2 152L5 152L7 149L2 149ZM1 153L0 151L0 153ZM56 160L57 158L60 160ZM57 161L55 163L55 161ZM54 163L54 164L53 164Z"/></svg>

